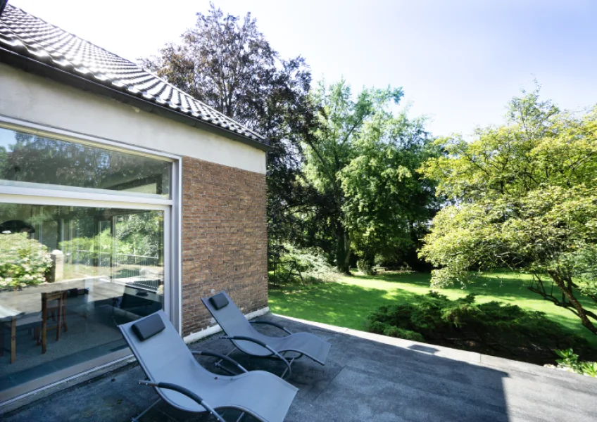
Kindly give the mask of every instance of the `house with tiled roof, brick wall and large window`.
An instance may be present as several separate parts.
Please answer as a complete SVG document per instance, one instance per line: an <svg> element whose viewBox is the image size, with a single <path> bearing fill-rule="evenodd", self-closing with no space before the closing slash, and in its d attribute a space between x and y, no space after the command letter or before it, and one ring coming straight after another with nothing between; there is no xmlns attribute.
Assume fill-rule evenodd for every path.
<svg viewBox="0 0 597 422"><path fill-rule="evenodd" d="M218 290L267 312L268 142L2 6L0 409L127 359L117 325L156 309L187 340Z"/></svg>

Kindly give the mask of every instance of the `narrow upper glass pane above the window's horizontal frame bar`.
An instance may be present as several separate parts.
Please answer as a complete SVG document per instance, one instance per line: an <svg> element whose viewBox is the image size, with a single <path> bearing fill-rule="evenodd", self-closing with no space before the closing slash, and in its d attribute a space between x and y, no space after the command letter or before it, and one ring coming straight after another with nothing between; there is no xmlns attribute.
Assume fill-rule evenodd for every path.
<svg viewBox="0 0 597 422"><path fill-rule="evenodd" d="M0 128L0 179L169 197L171 162Z"/></svg>

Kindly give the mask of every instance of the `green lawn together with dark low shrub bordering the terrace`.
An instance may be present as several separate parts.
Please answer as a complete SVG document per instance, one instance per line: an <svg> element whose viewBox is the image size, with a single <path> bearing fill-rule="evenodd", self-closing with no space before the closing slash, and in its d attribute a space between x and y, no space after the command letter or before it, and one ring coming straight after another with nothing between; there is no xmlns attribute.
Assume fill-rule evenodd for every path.
<svg viewBox="0 0 597 422"><path fill-rule="evenodd" d="M414 271L305 279L270 288L271 311L534 364L554 364L553 350L570 348L582 360L597 360L597 338L577 316L529 290L531 276L494 271L465 289L434 293L431 275Z"/></svg>

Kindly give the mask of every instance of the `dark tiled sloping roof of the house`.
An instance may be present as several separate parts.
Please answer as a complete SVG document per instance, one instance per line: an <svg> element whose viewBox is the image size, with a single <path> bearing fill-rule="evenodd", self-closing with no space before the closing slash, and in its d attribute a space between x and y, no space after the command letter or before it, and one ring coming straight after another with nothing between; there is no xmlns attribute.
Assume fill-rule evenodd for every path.
<svg viewBox="0 0 597 422"><path fill-rule="evenodd" d="M193 126L196 122L199 123L197 126L204 129L225 132L232 139L260 149L268 148L263 136L152 72L7 4L0 15L0 61L18 65L15 55L27 59L25 67L32 72L41 72L61 82L99 91L100 94L132 105L149 103L153 107L144 107L144 110L174 117ZM36 65L31 66L32 63Z"/></svg>

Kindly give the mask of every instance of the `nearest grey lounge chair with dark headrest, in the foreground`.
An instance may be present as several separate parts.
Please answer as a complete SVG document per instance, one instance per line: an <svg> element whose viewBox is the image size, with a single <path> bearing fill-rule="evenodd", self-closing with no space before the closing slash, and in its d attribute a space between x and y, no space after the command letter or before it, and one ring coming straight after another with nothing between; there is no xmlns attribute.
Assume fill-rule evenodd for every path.
<svg viewBox="0 0 597 422"><path fill-rule="evenodd" d="M191 352L162 311L119 326L150 385L160 396L133 418L136 422L161 399L177 409L194 413L209 412L226 422L216 409L241 411L240 421L249 414L261 422L282 422L297 389L264 371L247 372L237 362L221 354ZM233 365L239 374L220 376L203 368L194 354L219 357ZM231 372L229 370L229 372Z"/></svg>

